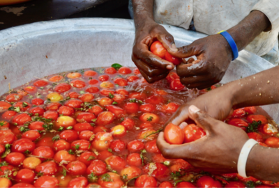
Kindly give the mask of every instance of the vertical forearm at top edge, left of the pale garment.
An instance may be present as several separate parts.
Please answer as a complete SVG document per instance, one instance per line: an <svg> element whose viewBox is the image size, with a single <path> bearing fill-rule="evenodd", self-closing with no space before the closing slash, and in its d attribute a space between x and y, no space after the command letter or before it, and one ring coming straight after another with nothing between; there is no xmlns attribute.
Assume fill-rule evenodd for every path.
<svg viewBox="0 0 279 188"><path fill-rule="evenodd" d="M135 29L139 29L146 22L154 22L153 0L133 0Z"/></svg>

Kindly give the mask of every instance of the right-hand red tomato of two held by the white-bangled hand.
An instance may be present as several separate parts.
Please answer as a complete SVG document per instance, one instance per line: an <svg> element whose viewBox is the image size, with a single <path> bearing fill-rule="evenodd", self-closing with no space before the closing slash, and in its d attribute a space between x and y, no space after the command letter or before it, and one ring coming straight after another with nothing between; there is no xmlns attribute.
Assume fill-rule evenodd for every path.
<svg viewBox="0 0 279 188"><path fill-rule="evenodd" d="M206 135L204 130L197 125L190 124L183 128L183 133L185 135L184 143L189 143L196 141Z"/></svg>

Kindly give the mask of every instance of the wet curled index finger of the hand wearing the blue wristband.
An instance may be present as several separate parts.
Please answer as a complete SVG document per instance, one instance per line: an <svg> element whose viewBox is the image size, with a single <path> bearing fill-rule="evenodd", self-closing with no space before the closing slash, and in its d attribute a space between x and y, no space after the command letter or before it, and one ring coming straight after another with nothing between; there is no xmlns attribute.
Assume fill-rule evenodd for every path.
<svg viewBox="0 0 279 188"><path fill-rule="evenodd" d="M205 61L199 61L199 63L179 64L176 65L176 72L179 77L191 77L197 75L207 74L207 66Z"/></svg>

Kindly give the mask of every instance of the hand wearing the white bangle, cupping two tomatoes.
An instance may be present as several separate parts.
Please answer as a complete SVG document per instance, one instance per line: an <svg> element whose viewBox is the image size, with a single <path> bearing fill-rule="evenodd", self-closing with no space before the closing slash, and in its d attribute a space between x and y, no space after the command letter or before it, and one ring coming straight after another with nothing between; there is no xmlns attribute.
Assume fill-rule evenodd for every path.
<svg viewBox="0 0 279 188"><path fill-rule="evenodd" d="M249 137L238 127L216 120L195 106L189 107L189 116L206 136L191 143L171 145L160 132L157 146L167 159L186 159L191 165L216 173L237 172L239 153Z"/></svg>

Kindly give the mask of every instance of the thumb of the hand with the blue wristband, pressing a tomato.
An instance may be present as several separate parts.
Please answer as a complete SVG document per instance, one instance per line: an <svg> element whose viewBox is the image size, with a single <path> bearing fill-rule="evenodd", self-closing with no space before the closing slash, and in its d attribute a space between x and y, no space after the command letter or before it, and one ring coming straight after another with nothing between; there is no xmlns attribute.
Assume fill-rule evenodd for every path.
<svg viewBox="0 0 279 188"><path fill-rule="evenodd" d="M168 49L169 54L178 58L188 58L190 56L197 56L201 52L196 45L190 44L187 46L179 47L177 49Z"/></svg>

